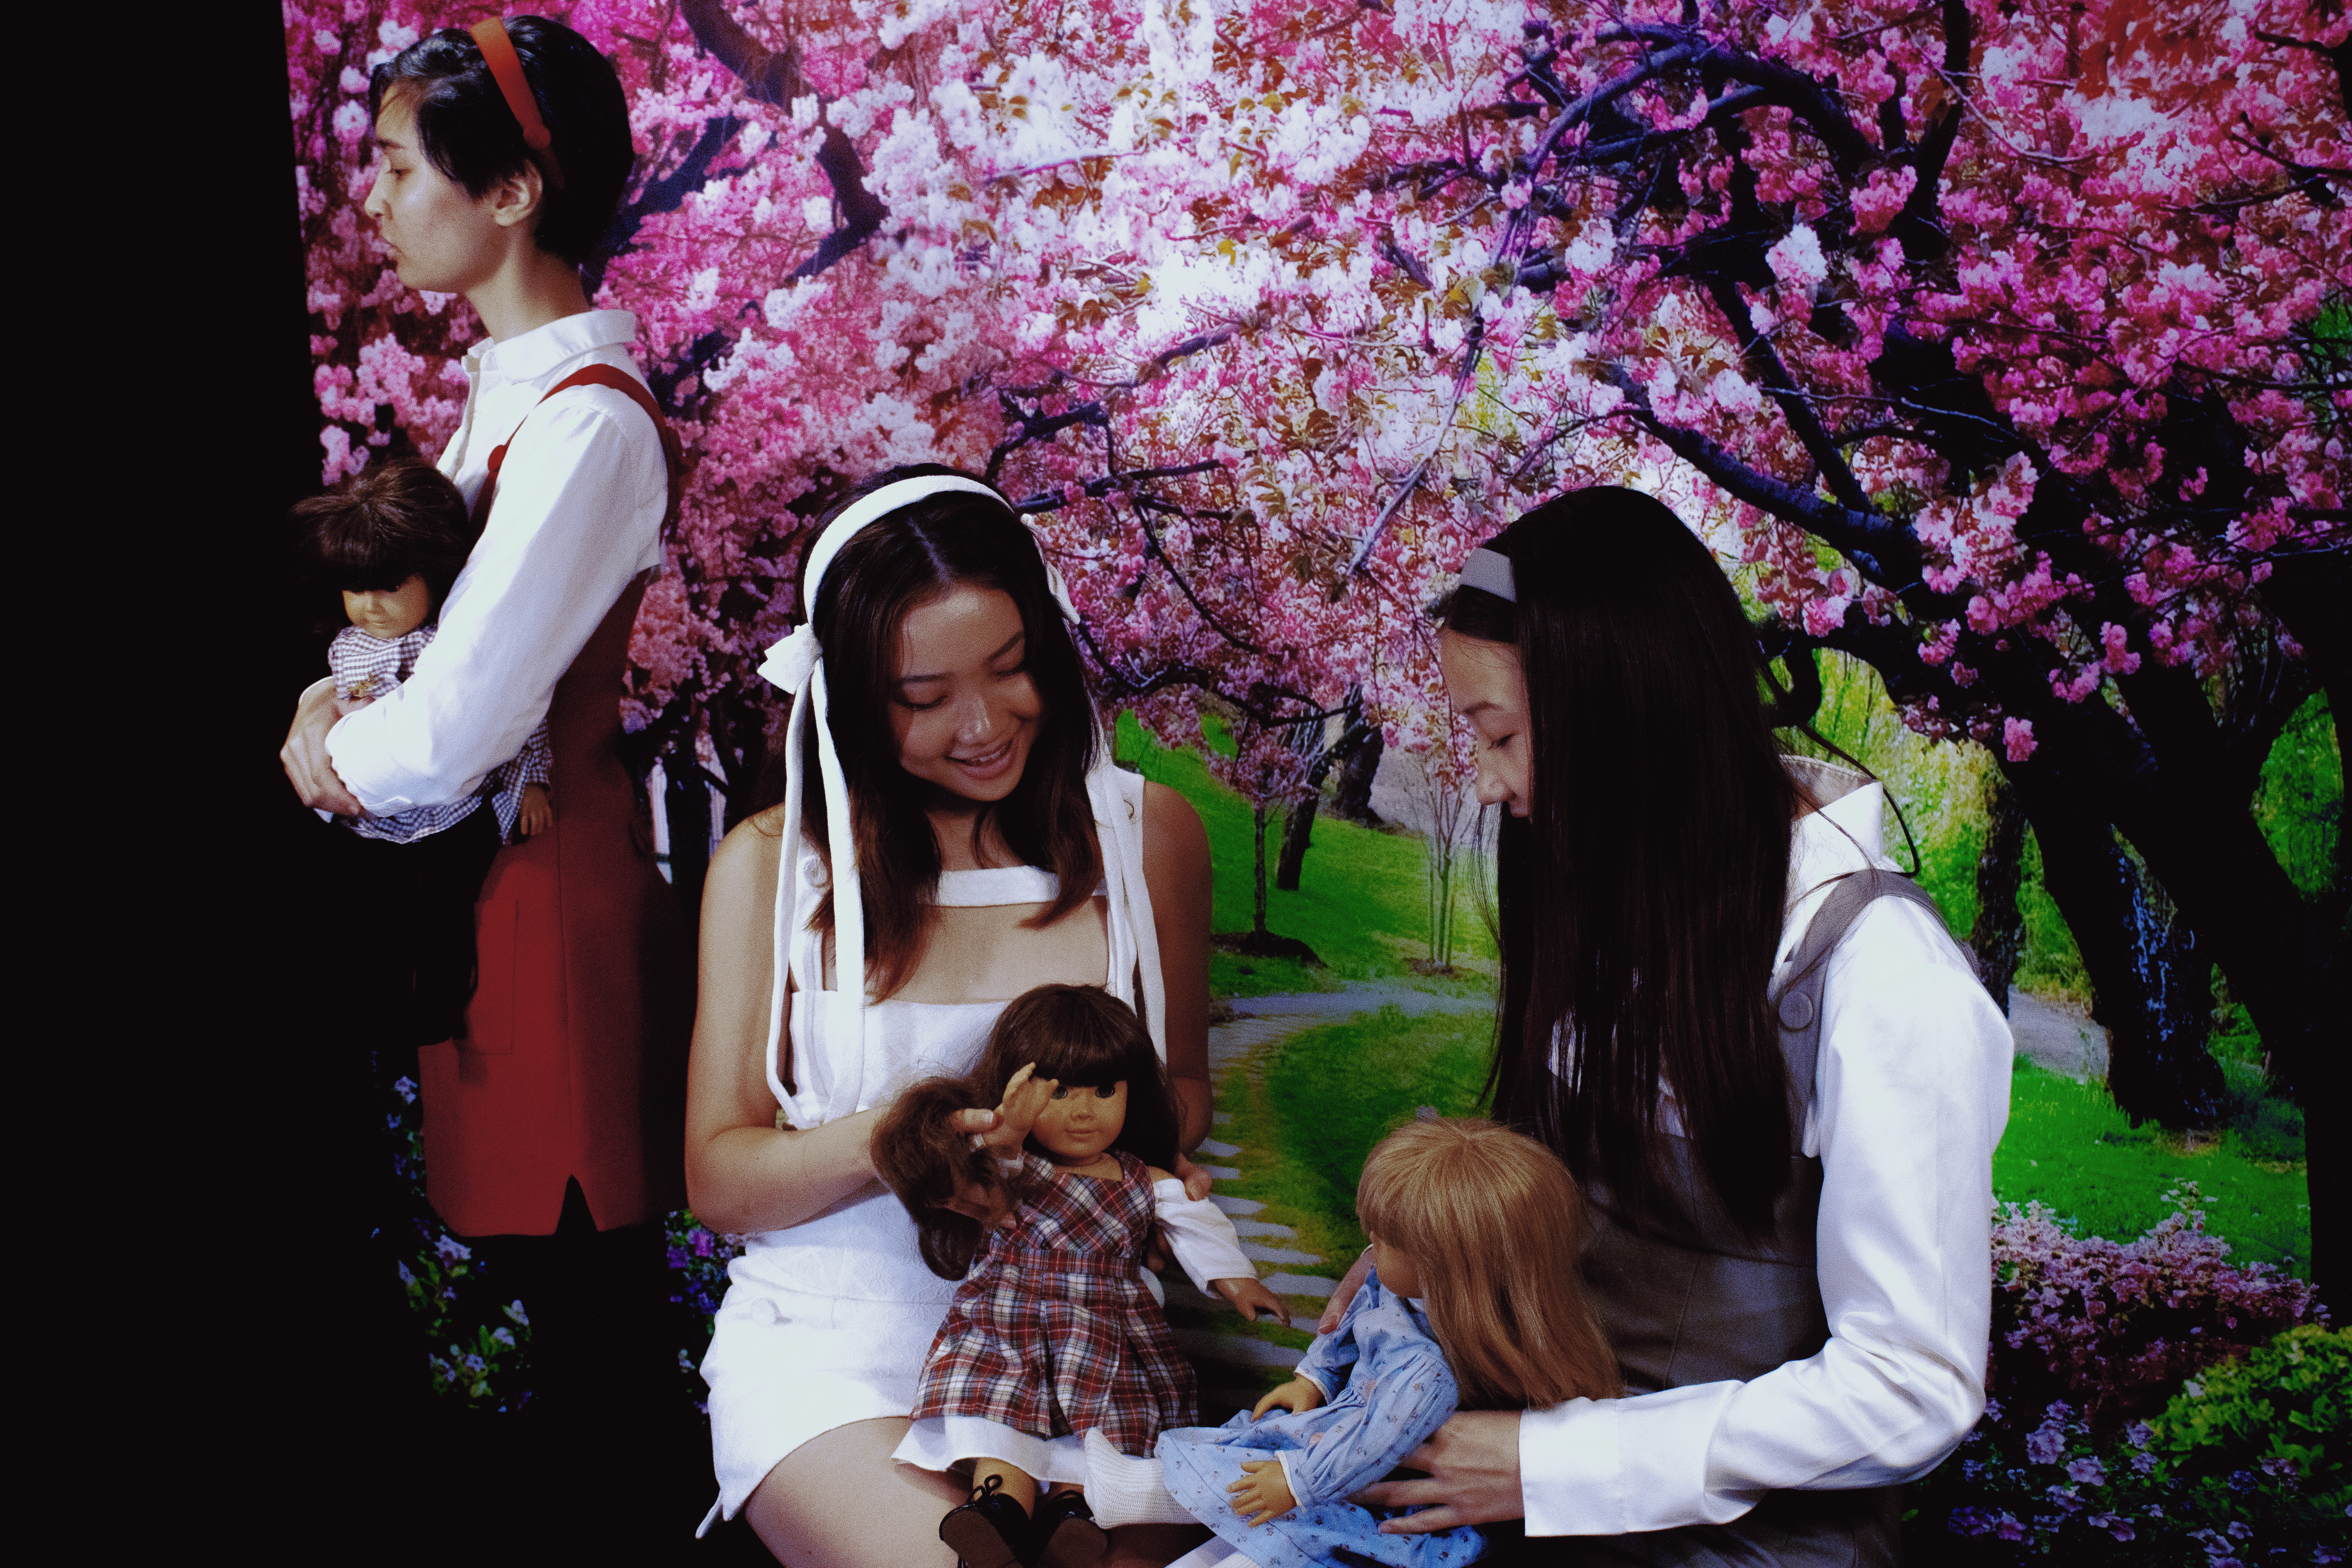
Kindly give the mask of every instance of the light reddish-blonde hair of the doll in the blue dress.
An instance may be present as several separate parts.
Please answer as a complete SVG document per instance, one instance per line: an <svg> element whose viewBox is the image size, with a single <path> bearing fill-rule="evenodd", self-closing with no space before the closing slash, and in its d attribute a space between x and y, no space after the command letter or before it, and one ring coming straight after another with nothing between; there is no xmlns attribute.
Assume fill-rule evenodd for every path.
<svg viewBox="0 0 2352 1568"><path fill-rule="evenodd" d="M1406 1121L1364 1157L1355 1213L1414 1260L1463 1408L1618 1394L1576 1267L1585 1206L1548 1147L1477 1117Z"/></svg>

